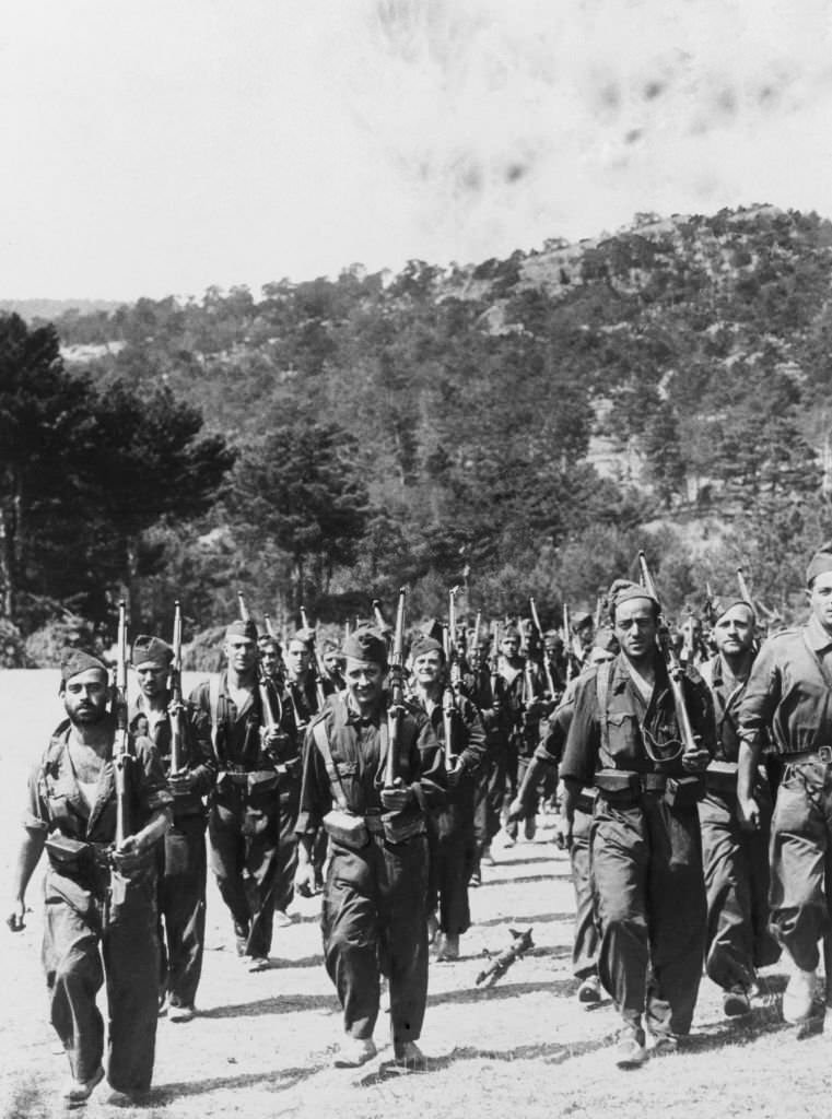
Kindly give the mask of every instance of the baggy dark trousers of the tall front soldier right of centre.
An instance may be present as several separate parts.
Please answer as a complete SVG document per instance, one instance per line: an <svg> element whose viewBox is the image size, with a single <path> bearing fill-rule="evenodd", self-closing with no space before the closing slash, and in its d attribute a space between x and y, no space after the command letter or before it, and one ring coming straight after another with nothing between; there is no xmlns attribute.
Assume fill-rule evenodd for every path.
<svg viewBox="0 0 832 1119"><path fill-rule="evenodd" d="M626 1024L686 1034L704 955L705 895L697 806L660 793L614 805L600 792L591 829L598 972Z"/></svg>

